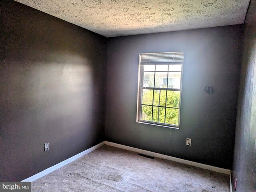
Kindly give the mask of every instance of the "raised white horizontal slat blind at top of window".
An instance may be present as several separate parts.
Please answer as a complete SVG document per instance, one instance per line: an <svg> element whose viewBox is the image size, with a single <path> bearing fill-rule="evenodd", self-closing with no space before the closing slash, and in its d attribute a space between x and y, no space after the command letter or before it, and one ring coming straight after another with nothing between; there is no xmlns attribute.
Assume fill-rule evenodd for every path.
<svg viewBox="0 0 256 192"><path fill-rule="evenodd" d="M184 61L184 52L140 54L141 65L182 64L183 61Z"/></svg>

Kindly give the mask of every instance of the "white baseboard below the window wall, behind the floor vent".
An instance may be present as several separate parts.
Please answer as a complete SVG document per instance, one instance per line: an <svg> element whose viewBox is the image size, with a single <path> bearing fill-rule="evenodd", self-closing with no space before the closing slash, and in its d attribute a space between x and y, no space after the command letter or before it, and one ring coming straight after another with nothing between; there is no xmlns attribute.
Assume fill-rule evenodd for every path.
<svg viewBox="0 0 256 192"><path fill-rule="evenodd" d="M191 165L191 166L195 166L195 167L199 167L199 168L203 168L203 169L207 169L207 170L211 170L211 171L215 171L215 172L219 172L219 173L224 173L227 175L230 174L229 169L214 167L214 166L210 166L210 165L206 165L206 164L202 164L202 163L184 160L184 159L180 159L180 158L176 158L176 157L172 157L172 156L168 156L168 155L163 155L163 154L155 153L155 152L151 152L151 151L146 151L146 150L142 150L142 149L138 149L138 148L133 148L133 147L129 147L129 146L121 145L121 144L116 144L116 143L112 143L112 142L108 142L108 141L104 141L104 144L113 146L113 147L130 150L130 151L134 151L134 152L138 152L138 153L152 156L152 157L167 159L167 160L171 160L171 161L182 163L182 164L187 164L187 165Z"/></svg>

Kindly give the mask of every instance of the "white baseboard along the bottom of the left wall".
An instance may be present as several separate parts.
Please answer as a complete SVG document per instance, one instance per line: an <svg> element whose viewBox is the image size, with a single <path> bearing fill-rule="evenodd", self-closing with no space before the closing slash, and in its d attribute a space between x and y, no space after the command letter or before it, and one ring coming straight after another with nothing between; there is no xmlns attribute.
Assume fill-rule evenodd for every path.
<svg viewBox="0 0 256 192"><path fill-rule="evenodd" d="M70 158L68 158L68 159L66 159L66 160L64 160L64 161L54 165L54 166L52 166L52 167L47 168L46 170L43 170L43 171L39 172L38 174L35 174L35 175L33 175L33 176L29 177L29 178L26 178L26 179L22 180L22 182L25 182L25 181L26 182L32 182L34 180L37 180L37 179L41 178L42 176L45 176L48 173L53 172L54 170L56 170L56 169L58 169L58 168L60 168L60 167L62 167L64 165L66 165L66 164L68 164L68 163L70 163L70 162L72 162L72 161L74 161L74 160L76 160L76 159L78 159L78 158L80 158L80 157L82 157L82 156L84 156L84 155L86 155L86 154L96 150L97 148L99 148L99 147L101 147L103 145L104 145L104 142L101 142L100 144L95 145L95 146L93 146L93 147L91 147L91 148L89 148L89 149L87 149L87 150L85 150L83 152L80 152L80 153L78 153L78 154L76 154L76 155L74 155L74 156L72 156L72 157L70 157Z"/></svg>

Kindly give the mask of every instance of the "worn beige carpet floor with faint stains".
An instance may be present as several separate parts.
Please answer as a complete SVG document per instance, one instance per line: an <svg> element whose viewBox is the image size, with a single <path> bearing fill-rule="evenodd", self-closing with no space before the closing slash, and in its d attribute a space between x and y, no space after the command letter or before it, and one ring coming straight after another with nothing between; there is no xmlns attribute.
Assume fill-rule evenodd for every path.
<svg viewBox="0 0 256 192"><path fill-rule="evenodd" d="M229 176L111 146L32 182L32 192L229 192Z"/></svg>

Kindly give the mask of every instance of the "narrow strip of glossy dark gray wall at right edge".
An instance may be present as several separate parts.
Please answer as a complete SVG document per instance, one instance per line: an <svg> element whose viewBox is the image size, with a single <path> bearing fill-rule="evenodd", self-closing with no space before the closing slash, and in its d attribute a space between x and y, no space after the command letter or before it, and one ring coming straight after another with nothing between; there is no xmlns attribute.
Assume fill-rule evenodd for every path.
<svg viewBox="0 0 256 192"><path fill-rule="evenodd" d="M232 186L237 192L256 191L256 1L248 9L236 121Z"/></svg>

